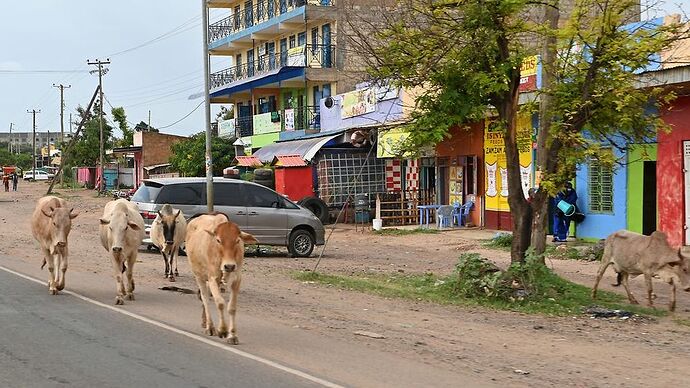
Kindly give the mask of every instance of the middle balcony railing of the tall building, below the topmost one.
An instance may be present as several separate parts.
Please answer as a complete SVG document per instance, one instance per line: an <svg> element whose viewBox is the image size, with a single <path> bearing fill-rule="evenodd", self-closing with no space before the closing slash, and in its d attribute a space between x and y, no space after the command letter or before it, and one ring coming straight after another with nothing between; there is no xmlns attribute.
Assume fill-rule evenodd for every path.
<svg viewBox="0 0 690 388"><path fill-rule="evenodd" d="M245 78L266 74L281 67L333 68L336 63L333 45L305 45L283 53L265 54L246 63L211 74L211 89Z"/></svg>

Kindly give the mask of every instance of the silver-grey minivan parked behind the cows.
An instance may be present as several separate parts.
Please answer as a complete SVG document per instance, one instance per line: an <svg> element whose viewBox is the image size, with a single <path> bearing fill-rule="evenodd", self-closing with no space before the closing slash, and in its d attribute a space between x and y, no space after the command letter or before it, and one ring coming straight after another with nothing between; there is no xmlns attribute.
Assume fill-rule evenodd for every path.
<svg viewBox="0 0 690 388"><path fill-rule="evenodd" d="M214 209L251 233L261 245L286 246L297 257L311 255L324 244L325 230L314 214L275 191L247 181L213 179ZM187 218L205 213L206 178L161 178L144 180L131 199L147 225L145 244L157 211L169 203Z"/></svg>

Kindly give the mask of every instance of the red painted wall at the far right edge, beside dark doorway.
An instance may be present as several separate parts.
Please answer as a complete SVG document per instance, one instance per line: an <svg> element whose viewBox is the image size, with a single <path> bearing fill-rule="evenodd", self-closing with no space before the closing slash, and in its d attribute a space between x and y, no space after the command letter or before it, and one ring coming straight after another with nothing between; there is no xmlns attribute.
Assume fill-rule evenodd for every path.
<svg viewBox="0 0 690 388"><path fill-rule="evenodd" d="M690 97L679 97L670 109L661 112L664 122L672 127L671 133L657 135L657 202L659 229L668 234L669 243L684 243L683 200L683 140L690 140ZM685 241L685 243L689 243Z"/></svg>

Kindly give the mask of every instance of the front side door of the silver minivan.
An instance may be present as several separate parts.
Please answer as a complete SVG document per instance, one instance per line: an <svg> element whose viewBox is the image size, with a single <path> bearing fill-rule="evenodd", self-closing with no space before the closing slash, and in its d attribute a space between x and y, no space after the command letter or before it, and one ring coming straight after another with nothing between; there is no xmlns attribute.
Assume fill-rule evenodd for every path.
<svg viewBox="0 0 690 388"><path fill-rule="evenodd" d="M266 187L244 184L247 203L247 233L261 244L287 245L287 213L278 193Z"/></svg>

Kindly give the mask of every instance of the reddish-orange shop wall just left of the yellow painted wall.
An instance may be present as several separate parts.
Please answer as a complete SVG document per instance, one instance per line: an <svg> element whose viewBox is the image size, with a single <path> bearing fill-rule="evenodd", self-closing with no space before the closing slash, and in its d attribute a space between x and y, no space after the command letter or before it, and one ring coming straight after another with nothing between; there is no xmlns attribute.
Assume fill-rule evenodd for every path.
<svg viewBox="0 0 690 388"><path fill-rule="evenodd" d="M449 138L436 146L437 157L477 156L477 203L470 217L472 224L480 225L481 201L484 200L484 123L472 124L469 128L453 127L449 134Z"/></svg>

